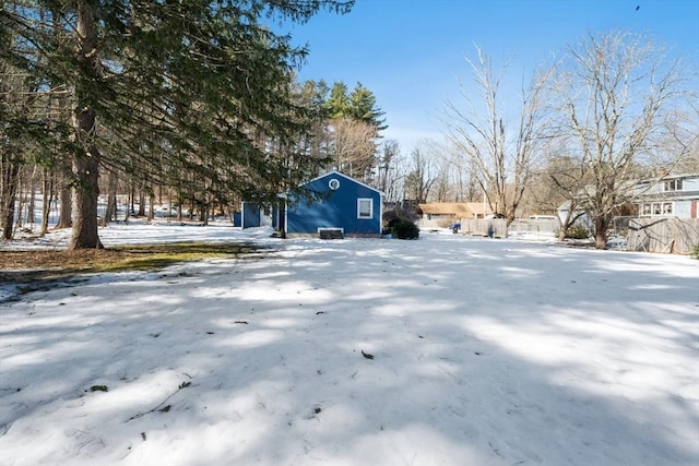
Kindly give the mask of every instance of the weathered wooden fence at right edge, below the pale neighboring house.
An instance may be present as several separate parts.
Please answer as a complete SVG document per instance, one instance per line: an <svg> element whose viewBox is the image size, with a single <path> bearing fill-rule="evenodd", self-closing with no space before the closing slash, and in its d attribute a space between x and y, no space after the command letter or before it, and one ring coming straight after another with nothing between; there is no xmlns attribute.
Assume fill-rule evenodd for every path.
<svg viewBox="0 0 699 466"><path fill-rule="evenodd" d="M699 244L699 219L631 218L628 251L688 254Z"/></svg>

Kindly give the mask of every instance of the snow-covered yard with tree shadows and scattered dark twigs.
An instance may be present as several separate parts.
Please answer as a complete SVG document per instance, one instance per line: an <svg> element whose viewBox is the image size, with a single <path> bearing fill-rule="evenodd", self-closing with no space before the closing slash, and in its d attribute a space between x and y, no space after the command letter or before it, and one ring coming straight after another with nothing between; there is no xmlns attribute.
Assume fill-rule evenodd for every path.
<svg viewBox="0 0 699 466"><path fill-rule="evenodd" d="M699 464L698 261L268 232L109 227L273 249L0 284L0 464Z"/></svg>

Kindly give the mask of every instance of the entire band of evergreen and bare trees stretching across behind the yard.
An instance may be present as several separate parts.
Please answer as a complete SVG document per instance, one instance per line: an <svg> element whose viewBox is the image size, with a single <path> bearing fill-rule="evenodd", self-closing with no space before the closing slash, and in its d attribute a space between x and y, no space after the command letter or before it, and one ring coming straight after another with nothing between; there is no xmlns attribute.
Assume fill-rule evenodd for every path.
<svg viewBox="0 0 699 466"><path fill-rule="evenodd" d="M71 249L100 248L97 196L164 196L206 222L240 200L270 203L336 168L389 201L481 201L511 222L568 203L604 247L629 183L696 171L696 70L647 37L589 35L503 96L508 64L476 48L473 80L447 105L445 141L406 156L357 83L295 79L308 50L263 20L307 21L353 1L7 1L0 10L0 227L20 182L59 198ZM512 113L511 109L518 111ZM152 215L152 208L149 214ZM180 212L181 215L181 212ZM43 218L47 214L43 213ZM46 220L42 232L46 232Z"/></svg>

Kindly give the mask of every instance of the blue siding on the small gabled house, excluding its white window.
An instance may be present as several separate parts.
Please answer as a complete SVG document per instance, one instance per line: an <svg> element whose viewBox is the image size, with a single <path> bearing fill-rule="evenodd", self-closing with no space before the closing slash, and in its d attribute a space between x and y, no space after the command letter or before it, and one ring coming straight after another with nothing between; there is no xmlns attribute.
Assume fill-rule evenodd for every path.
<svg viewBox="0 0 699 466"><path fill-rule="evenodd" d="M329 182L337 179L340 187L331 190ZM286 231L316 235L318 228L342 228L345 235L381 235L381 193L336 171L304 184L305 189L321 194L319 200L301 198L289 200ZM371 218L357 218L358 199L371 199Z"/></svg>

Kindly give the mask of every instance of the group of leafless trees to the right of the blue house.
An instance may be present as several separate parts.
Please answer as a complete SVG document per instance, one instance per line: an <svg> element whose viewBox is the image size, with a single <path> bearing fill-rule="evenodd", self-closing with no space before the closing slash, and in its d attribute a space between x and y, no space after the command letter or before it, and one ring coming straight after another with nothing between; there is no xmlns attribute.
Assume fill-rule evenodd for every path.
<svg viewBox="0 0 699 466"><path fill-rule="evenodd" d="M604 248L616 215L632 214L637 181L699 171L697 70L643 35L588 35L505 97L499 68L476 47L473 80L443 112L445 141L406 160L410 199L481 201L512 222L523 210L555 214L560 239L587 214ZM516 111L512 111L514 109Z"/></svg>

